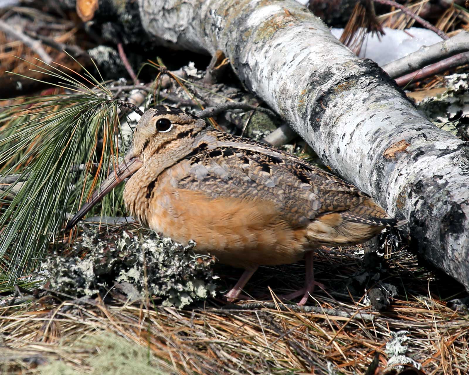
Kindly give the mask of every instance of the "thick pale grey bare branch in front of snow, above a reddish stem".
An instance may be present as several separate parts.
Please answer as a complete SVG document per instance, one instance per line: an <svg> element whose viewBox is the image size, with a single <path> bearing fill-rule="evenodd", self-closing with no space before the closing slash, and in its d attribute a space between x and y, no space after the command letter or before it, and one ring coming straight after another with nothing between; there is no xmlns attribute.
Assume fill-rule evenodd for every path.
<svg viewBox="0 0 469 375"><path fill-rule="evenodd" d="M469 32L461 31L454 37L430 46L422 46L416 52L390 62L383 70L391 77L401 77L457 53L469 51Z"/></svg>

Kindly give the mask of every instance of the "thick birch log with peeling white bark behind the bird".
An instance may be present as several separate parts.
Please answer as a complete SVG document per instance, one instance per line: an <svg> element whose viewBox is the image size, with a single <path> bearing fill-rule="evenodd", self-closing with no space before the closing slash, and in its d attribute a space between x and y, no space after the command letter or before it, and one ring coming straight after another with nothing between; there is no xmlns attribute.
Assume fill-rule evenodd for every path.
<svg viewBox="0 0 469 375"><path fill-rule="evenodd" d="M436 128L371 60L293 0L139 0L148 36L225 52L249 90L469 290L469 144Z"/></svg>

